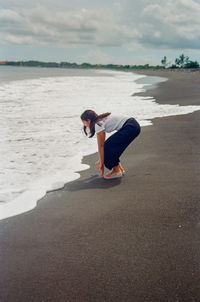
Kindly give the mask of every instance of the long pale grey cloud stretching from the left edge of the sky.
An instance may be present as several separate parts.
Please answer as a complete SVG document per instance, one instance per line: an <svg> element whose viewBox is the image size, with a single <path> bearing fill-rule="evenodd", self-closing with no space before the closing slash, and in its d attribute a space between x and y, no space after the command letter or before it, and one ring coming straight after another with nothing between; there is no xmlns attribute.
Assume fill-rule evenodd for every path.
<svg viewBox="0 0 200 302"><path fill-rule="evenodd" d="M13 26L13 23L15 25ZM79 9L52 11L38 5L20 13L2 10L2 39L11 43L120 46L137 35L124 25L115 23L105 11Z"/></svg>

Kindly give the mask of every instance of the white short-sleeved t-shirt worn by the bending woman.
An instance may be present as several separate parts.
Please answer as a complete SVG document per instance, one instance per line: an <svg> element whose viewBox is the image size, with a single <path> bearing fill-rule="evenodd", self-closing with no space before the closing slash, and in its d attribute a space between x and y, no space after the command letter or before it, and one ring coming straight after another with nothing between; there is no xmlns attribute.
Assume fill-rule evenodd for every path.
<svg viewBox="0 0 200 302"><path fill-rule="evenodd" d="M95 124L95 132L112 132L114 130L119 130L122 128L123 124L129 119L130 117L126 115L117 115L117 114L110 114L104 119L100 120L98 124Z"/></svg>

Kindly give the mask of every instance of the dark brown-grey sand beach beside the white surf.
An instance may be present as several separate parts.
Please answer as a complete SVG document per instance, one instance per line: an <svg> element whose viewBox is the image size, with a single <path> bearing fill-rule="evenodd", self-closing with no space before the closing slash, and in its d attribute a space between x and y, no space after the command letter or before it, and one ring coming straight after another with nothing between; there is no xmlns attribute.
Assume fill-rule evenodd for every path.
<svg viewBox="0 0 200 302"><path fill-rule="evenodd" d="M149 89L163 104L200 105L200 75ZM91 168L34 210L0 222L1 302L200 301L200 111L153 120L121 160Z"/></svg>

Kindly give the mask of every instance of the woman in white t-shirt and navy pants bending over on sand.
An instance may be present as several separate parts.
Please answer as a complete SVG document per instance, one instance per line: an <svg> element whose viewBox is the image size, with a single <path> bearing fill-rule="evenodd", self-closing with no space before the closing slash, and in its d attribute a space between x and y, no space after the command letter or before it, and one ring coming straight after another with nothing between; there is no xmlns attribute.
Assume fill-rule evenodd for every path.
<svg viewBox="0 0 200 302"><path fill-rule="evenodd" d="M105 179L122 177L125 173L120 156L128 145L140 134L141 128L133 117L116 115L109 112L98 115L93 110L86 110L81 115L83 130L90 130L90 137L97 134L99 161L98 170ZM116 131L106 140L106 133ZM111 170L104 175L104 165Z"/></svg>

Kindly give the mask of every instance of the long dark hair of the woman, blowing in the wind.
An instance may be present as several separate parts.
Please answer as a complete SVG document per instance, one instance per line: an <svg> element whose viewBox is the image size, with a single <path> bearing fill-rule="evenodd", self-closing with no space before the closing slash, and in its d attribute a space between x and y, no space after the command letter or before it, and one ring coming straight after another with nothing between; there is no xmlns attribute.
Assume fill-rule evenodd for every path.
<svg viewBox="0 0 200 302"><path fill-rule="evenodd" d="M90 120L90 136L89 137L93 137L95 134L95 124L98 123L99 121L101 121L103 118L107 117L108 115L110 115L110 112L106 112L103 114L98 115L95 111L93 110L85 110L82 114L81 114L81 119L82 121L88 121ZM85 132L85 135L87 135L87 131L86 131L86 126L83 126L83 131Z"/></svg>

